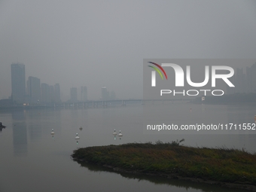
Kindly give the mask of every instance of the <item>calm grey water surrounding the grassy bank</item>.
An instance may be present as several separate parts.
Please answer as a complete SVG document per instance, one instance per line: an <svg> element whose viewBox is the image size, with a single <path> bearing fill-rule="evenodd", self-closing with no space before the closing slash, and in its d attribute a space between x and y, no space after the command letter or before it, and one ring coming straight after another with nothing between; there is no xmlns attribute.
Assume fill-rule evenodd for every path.
<svg viewBox="0 0 256 192"><path fill-rule="evenodd" d="M147 110L158 108L165 114L180 109L182 115L192 108L189 113L194 113L197 120L201 116L210 117L212 123L220 123L220 120L234 123L252 120L254 123L256 114L249 105L205 105L202 108L185 103L148 103L144 107ZM0 132L0 191L239 191L188 181L118 174L97 166L81 166L71 159L72 151L80 147L157 140L169 142L183 138L184 145L256 151L256 135L253 134L145 134L142 119L142 105L0 111L0 121L7 126ZM80 126L83 130L79 130ZM53 137L50 135L52 129ZM114 140L114 129L123 133L121 140ZM78 144L76 133L80 136Z"/></svg>

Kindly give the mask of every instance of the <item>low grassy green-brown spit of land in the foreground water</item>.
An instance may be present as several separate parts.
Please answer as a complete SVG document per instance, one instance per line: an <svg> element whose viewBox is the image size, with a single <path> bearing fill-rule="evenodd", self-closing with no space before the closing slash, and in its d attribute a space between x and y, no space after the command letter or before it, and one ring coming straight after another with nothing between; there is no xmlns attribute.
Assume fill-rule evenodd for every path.
<svg viewBox="0 0 256 192"><path fill-rule="evenodd" d="M256 191L256 154L227 148L193 148L177 142L78 148L74 160L134 172Z"/></svg>

